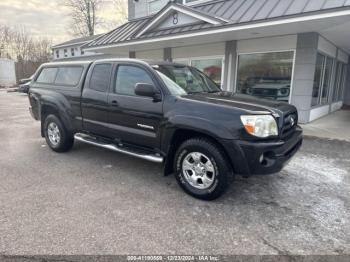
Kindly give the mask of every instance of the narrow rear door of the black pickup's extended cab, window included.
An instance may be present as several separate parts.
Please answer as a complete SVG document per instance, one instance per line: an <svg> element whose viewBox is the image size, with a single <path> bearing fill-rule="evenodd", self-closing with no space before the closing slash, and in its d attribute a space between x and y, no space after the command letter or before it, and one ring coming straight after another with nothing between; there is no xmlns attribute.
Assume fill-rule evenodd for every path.
<svg viewBox="0 0 350 262"><path fill-rule="evenodd" d="M81 98L84 131L107 137L109 134L108 90L112 68L112 63L94 64L87 76Z"/></svg>

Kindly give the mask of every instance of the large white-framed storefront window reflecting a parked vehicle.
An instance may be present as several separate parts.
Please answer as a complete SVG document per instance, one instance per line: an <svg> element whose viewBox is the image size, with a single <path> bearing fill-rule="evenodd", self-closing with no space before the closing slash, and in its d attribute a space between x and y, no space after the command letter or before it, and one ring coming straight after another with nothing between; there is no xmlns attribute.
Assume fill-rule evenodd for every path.
<svg viewBox="0 0 350 262"><path fill-rule="evenodd" d="M236 92L289 102L294 51L239 54Z"/></svg>

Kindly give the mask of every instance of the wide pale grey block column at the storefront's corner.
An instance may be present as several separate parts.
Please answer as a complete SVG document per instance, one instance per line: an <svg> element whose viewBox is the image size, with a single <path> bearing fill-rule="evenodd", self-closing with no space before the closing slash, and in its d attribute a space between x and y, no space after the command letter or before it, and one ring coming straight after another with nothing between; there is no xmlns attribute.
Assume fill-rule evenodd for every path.
<svg viewBox="0 0 350 262"><path fill-rule="evenodd" d="M298 109L301 123L307 123L310 120L317 46L317 33L298 34L292 83L292 104Z"/></svg>

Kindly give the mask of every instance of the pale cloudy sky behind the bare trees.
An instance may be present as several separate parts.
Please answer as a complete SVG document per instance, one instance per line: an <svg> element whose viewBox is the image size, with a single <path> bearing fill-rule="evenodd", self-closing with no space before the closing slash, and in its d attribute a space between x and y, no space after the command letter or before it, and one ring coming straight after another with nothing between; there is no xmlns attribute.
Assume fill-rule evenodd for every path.
<svg viewBox="0 0 350 262"><path fill-rule="evenodd" d="M70 34L69 10L62 5L62 0L0 0L0 24L25 26L35 37L47 37L53 44L75 38ZM117 24L116 14L108 4L101 10L104 21L108 24L96 33L109 31Z"/></svg>

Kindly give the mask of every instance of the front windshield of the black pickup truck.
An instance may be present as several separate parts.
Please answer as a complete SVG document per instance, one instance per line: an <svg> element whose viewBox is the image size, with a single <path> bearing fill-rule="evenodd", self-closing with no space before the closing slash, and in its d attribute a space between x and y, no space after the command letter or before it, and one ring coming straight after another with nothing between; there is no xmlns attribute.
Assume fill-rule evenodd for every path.
<svg viewBox="0 0 350 262"><path fill-rule="evenodd" d="M155 69L174 81L188 94L217 93L221 91L214 81L194 67L160 65Z"/></svg>

